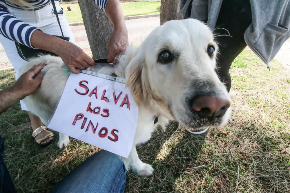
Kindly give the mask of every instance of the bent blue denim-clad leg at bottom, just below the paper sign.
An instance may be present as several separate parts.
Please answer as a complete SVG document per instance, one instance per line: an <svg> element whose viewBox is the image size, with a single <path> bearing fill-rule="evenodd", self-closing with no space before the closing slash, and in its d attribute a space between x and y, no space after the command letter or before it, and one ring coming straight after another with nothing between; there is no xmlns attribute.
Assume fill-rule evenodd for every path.
<svg viewBox="0 0 290 193"><path fill-rule="evenodd" d="M70 172L52 192L124 192L126 168L121 159L99 151Z"/></svg>

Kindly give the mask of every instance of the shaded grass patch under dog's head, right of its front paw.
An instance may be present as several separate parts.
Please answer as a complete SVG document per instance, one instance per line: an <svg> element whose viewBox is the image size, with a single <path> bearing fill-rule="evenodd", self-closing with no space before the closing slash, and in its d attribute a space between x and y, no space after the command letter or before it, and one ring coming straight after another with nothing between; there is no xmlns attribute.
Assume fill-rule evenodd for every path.
<svg viewBox="0 0 290 193"><path fill-rule="evenodd" d="M175 181L186 168L200 164L196 160L205 137L206 134L186 133L177 122L171 122L165 133L158 129L147 143L137 148L139 158L153 165L153 176L139 177L128 172L125 192L172 191Z"/></svg>

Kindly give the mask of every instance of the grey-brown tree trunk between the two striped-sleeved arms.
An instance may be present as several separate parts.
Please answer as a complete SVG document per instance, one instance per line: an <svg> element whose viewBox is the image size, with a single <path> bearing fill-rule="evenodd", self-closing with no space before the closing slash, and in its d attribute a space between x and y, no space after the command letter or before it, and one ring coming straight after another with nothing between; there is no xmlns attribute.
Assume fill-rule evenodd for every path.
<svg viewBox="0 0 290 193"><path fill-rule="evenodd" d="M108 41L114 27L105 12L92 0L80 0L79 7L84 20L90 49L94 59L108 57Z"/></svg>

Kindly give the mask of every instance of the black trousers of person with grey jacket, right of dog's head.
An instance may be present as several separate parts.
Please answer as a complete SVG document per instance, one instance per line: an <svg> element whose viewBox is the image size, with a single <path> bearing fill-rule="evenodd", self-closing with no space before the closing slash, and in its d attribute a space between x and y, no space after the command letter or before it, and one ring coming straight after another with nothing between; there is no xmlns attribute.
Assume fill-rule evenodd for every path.
<svg viewBox="0 0 290 193"><path fill-rule="evenodd" d="M223 0L220 14L214 30L215 41L220 50L217 63L217 74L226 85L228 92L231 89L231 76L229 70L234 59L247 46L244 33L252 22L250 0ZM228 34L230 36L219 36Z"/></svg>

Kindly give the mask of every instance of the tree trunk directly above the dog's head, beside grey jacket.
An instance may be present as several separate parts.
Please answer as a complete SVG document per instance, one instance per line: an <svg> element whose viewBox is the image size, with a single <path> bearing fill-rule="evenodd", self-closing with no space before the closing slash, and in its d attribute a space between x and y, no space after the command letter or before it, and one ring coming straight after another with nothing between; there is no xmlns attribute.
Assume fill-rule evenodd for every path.
<svg viewBox="0 0 290 193"><path fill-rule="evenodd" d="M161 0L160 25L173 19L181 19L180 0Z"/></svg>

